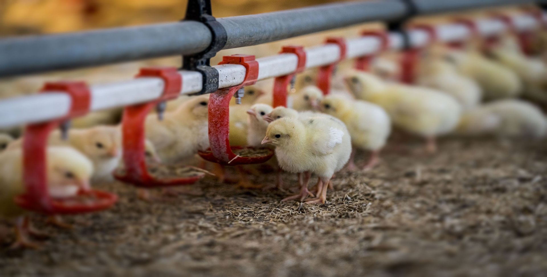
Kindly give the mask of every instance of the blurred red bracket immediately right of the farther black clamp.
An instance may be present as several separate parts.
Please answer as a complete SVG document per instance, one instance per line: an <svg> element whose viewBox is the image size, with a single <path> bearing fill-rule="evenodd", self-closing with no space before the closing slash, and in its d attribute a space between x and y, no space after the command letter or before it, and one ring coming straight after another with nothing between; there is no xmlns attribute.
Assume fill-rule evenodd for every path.
<svg viewBox="0 0 547 277"><path fill-rule="evenodd" d="M411 30L423 30L428 33L429 40L428 45L437 43L437 29L428 24L415 24L410 26ZM416 80L416 72L418 67L418 62L420 62L420 53L424 47L421 48L411 48L403 51L400 67L401 67L401 82L405 84L414 84Z"/></svg>

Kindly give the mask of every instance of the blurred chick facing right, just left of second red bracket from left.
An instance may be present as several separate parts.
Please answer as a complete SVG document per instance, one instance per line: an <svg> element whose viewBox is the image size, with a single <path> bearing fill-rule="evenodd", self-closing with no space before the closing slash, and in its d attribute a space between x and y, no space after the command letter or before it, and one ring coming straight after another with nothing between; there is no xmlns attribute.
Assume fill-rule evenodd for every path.
<svg viewBox="0 0 547 277"><path fill-rule="evenodd" d="M22 139L8 145L8 149L20 148ZM95 126L69 129L67 140L59 130L51 132L48 145L72 146L91 160L95 168L92 181L112 181L112 172L121 158L121 133L117 126Z"/></svg>

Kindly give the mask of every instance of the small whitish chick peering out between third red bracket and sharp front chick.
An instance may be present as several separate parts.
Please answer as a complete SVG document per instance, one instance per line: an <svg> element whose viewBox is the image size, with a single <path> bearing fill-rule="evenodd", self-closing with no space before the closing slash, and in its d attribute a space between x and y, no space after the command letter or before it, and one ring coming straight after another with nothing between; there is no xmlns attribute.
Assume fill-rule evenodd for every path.
<svg viewBox="0 0 547 277"><path fill-rule="evenodd" d="M247 144L253 147L261 147L268 122L264 116L271 113L273 108L266 104L254 104L251 109L247 110L248 116L248 133Z"/></svg>

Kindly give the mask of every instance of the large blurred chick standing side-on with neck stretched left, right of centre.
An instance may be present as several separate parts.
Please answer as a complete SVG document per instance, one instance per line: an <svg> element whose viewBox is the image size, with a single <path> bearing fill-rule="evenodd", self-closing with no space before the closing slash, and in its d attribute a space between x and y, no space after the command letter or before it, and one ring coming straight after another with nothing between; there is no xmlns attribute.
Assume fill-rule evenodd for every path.
<svg viewBox="0 0 547 277"><path fill-rule="evenodd" d="M461 114L453 97L433 89L387 84L364 72L354 72L346 81L358 99L385 109L394 125L426 138L428 152L437 149L435 137L452 131Z"/></svg>

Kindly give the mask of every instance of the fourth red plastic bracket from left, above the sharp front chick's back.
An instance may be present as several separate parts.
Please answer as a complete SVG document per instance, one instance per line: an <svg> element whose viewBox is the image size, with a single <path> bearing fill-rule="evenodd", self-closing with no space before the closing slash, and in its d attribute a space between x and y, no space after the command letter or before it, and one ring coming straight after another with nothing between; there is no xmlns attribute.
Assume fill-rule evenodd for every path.
<svg viewBox="0 0 547 277"><path fill-rule="evenodd" d="M298 62L296 63L294 73L274 79L274 108L279 106L287 107L287 86L296 73L300 73L306 69L306 51L304 51L304 46L283 46L280 54L283 53L295 54L298 57Z"/></svg>

